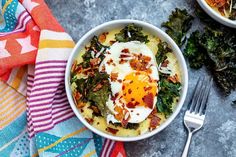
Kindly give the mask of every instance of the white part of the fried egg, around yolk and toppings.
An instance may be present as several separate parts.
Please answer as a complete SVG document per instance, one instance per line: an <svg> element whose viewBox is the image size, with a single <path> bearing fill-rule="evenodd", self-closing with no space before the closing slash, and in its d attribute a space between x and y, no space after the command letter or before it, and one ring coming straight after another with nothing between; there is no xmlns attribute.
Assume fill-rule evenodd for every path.
<svg viewBox="0 0 236 157"><path fill-rule="evenodd" d="M120 64L120 54L122 53L121 51L124 49L129 49L130 54L143 54L145 56L148 56L151 58L149 65L150 69L152 70L151 74L149 75L151 79L153 80L159 80L159 75L158 75L158 70L157 70L157 63L155 56L153 52L144 44L139 41L130 41L130 42L125 42L125 43L119 43L116 42L114 43L110 49L107 50L107 53L105 54L105 58L102 61L99 71L102 71L102 67L105 67L105 72L109 75L111 73L118 73L118 78L120 80L123 80L126 75L135 72L129 64L129 62L125 62ZM133 56L128 58L129 60L132 59ZM108 64L107 62L112 59L113 63ZM126 58L127 59L127 58ZM122 92L122 83L119 82L113 82L109 79L110 84L111 84L111 92L112 95L114 96L116 93ZM157 91L158 92L158 91ZM118 120L114 118L113 114L116 114L114 107L117 106L122 106L121 102L125 102L123 99L116 99L115 103L111 100L111 96L109 97L109 100L106 102L106 105L108 109L110 110L111 114L107 116L107 122L113 122L113 123L120 123ZM154 97L154 104L156 104L157 98L156 96ZM128 102L127 102L128 103ZM155 105L153 105L154 108ZM129 114L130 114L130 119L128 120L129 123L140 123L144 121L148 115L152 112L153 109L150 109L148 107L144 106L136 106L135 108L127 108L125 107ZM132 110L132 112L131 112Z"/></svg>

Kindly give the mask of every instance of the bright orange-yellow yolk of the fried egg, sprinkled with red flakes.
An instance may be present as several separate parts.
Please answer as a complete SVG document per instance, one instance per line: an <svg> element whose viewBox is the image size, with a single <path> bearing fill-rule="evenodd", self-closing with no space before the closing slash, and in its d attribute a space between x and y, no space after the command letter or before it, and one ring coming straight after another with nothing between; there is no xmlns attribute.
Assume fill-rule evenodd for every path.
<svg viewBox="0 0 236 157"><path fill-rule="evenodd" d="M157 94L157 82L144 71L132 72L125 76L122 92L126 107L144 106L152 109Z"/></svg>

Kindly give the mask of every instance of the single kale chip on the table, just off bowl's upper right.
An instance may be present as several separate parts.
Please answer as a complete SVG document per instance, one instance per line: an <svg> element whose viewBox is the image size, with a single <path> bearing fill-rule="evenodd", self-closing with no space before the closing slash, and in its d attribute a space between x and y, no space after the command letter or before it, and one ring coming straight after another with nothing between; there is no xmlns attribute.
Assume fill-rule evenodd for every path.
<svg viewBox="0 0 236 157"><path fill-rule="evenodd" d="M185 41L185 35L192 25L193 16L187 13L187 10L175 9L169 16L167 22L162 23L177 45L182 46Z"/></svg>

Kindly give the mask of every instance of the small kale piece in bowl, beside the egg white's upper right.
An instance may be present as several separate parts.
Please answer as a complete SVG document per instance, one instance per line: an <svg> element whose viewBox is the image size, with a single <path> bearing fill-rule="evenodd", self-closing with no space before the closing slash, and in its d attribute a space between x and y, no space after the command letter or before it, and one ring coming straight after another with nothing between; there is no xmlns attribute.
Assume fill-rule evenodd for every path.
<svg viewBox="0 0 236 157"><path fill-rule="evenodd" d="M157 64L159 65L160 63L162 63L167 58L166 54L171 51L172 50L168 47L168 44L166 42L160 42L158 44L158 51L155 55Z"/></svg>

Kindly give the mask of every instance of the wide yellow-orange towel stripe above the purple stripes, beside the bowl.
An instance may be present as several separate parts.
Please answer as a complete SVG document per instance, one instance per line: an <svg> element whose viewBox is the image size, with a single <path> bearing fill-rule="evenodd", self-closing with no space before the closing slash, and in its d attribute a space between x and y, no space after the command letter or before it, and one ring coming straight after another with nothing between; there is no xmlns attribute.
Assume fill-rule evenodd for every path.
<svg viewBox="0 0 236 157"><path fill-rule="evenodd" d="M71 40L50 40L45 39L39 42L39 49L44 48L73 48L75 43Z"/></svg>

